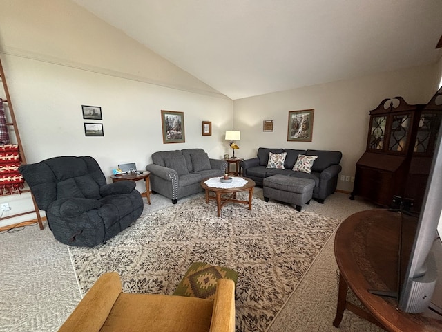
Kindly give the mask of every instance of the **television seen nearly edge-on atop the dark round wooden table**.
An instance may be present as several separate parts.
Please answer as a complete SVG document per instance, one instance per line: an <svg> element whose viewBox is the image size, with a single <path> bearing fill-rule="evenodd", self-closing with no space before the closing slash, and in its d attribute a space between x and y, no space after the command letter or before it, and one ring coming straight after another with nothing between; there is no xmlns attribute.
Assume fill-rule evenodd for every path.
<svg viewBox="0 0 442 332"><path fill-rule="evenodd" d="M434 95L432 102L442 106L442 88ZM432 303L437 278L441 284L442 270L437 270L436 260L442 261L442 254L434 255L434 247L442 246L442 123L436 141L430 175L416 233L412 238L410 258L403 266L405 277L399 283L398 308L406 313L423 313L427 308L441 315L441 304ZM438 234L439 230L439 234ZM439 289L437 293L442 293Z"/></svg>

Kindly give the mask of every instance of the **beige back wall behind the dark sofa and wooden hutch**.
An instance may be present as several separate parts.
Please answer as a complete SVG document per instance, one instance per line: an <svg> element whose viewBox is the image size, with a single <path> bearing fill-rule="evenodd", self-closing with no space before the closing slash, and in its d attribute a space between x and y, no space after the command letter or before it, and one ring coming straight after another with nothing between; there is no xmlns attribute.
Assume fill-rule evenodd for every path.
<svg viewBox="0 0 442 332"><path fill-rule="evenodd" d="M236 155L256 156L258 147L338 150L343 152L340 174L354 176L365 150L369 110L396 96L426 104L439 80L434 65L234 100L233 124L241 131ZM313 140L287 142L289 111L302 109L314 109ZM273 132L262 131L263 120L273 120ZM352 191L353 183L338 181L338 189Z"/></svg>

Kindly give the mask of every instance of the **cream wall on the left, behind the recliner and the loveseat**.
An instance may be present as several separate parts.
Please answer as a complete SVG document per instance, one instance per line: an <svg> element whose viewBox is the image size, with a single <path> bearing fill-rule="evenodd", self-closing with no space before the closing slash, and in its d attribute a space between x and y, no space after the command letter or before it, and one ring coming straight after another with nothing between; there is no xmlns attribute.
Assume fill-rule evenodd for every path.
<svg viewBox="0 0 442 332"><path fill-rule="evenodd" d="M89 155L108 177L119 163L144 169L155 151L201 147L211 158L229 152L229 98L71 1L0 4L0 56L28 163ZM84 120L81 105L102 107L103 120ZM163 144L162 109L184 112L185 143ZM202 121L212 122L212 136L202 136ZM102 123L104 137L86 137L84 122ZM145 191L142 181L137 189ZM11 207L3 217L33 208L30 194L0 203ZM33 218L5 219L0 227Z"/></svg>

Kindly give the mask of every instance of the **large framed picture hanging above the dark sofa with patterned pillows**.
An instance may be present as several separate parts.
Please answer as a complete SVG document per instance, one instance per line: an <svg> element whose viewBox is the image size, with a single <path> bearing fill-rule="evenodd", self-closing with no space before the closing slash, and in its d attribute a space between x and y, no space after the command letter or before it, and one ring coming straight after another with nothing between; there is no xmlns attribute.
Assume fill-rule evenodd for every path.
<svg viewBox="0 0 442 332"><path fill-rule="evenodd" d="M313 139L314 109L289 111L287 140L294 142L311 142Z"/></svg>

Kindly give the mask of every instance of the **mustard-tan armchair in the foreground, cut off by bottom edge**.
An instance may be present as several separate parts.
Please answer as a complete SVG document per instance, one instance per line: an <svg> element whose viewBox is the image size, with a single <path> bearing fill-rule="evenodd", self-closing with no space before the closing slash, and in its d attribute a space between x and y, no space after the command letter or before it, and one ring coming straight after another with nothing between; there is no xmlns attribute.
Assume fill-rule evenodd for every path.
<svg viewBox="0 0 442 332"><path fill-rule="evenodd" d="M218 281L215 299L123 293L119 275L104 273L59 332L234 332L235 283Z"/></svg>

